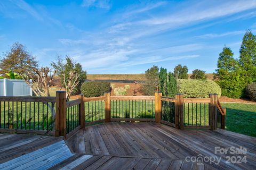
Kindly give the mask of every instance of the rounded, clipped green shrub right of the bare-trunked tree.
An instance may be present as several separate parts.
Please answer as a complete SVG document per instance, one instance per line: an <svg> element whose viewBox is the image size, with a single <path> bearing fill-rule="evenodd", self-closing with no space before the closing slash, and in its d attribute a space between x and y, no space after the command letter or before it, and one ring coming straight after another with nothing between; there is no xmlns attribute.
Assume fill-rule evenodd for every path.
<svg viewBox="0 0 256 170"><path fill-rule="evenodd" d="M98 97L110 91L110 83L105 81L84 82L81 86L81 92L85 97Z"/></svg>

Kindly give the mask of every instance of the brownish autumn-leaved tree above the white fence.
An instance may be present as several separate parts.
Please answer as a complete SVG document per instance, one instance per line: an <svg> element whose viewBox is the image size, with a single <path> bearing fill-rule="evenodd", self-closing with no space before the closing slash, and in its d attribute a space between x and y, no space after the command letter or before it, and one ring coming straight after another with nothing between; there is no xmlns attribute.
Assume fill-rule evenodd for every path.
<svg viewBox="0 0 256 170"><path fill-rule="evenodd" d="M20 43L14 43L0 60L0 74L7 77L5 73L12 71L22 75L37 68L37 66L35 57L28 52L27 48Z"/></svg>

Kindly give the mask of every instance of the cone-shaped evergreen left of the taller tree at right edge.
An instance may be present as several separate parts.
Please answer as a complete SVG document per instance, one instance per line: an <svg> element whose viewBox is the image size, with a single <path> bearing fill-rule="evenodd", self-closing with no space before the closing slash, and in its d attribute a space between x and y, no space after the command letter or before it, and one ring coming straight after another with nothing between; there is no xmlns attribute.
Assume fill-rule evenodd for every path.
<svg viewBox="0 0 256 170"><path fill-rule="evenodd" d="M246 80L243 76L243 70L239 68L238 62L233 57L234 53L228 47L223 47L219 54L218 69L215 78L222 90L222 95L239 98L244 95Z"/></svg>

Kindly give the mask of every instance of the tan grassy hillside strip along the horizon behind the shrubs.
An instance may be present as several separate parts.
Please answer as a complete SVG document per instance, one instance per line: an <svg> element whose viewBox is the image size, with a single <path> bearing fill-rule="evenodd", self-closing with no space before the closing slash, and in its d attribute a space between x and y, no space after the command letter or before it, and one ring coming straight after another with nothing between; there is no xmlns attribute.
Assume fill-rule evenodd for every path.
<svg viewBox="0 0 256 170"><path fill-rule="evenodd" d="M188 74L190 77L192 74ZM207 78L213 80L213 74L207 73ZM89 80L145 80L145 74L87 74Z"/></svg>

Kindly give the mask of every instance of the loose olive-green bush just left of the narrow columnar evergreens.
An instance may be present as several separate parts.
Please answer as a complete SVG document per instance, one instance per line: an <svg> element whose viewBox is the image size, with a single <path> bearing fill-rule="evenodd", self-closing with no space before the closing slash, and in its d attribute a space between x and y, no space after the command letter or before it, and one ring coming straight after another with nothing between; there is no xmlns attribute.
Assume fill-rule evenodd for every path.
<svg viewBox="0 0 256 170"><path fill-rule="evenodd" d="M154 95L158 87L158 66L153 66L145 72L146 81L141 87L144 95Z"/></svg>

